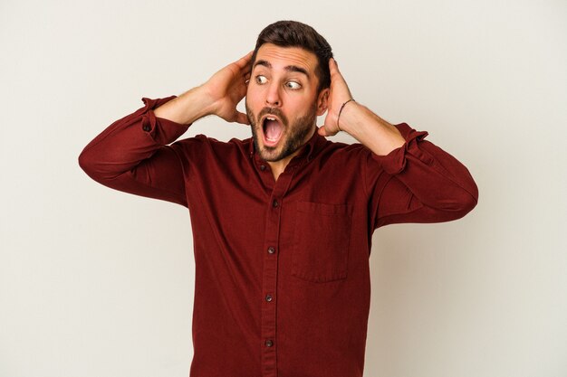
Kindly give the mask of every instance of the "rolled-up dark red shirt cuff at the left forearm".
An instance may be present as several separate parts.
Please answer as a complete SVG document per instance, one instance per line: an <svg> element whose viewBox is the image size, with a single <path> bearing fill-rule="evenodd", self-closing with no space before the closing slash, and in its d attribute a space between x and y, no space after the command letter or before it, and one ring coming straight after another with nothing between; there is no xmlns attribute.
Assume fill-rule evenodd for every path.
<svg viewBox="0 0 567 377"><path fill-rule="evenodd" d="M157 143L162 145L174 142L191 126L190 124L182 125L165 118L156 117L154 109L159 108L159 106L176 97L177 96L169 96L165 99L142 98L145 107L141 109L141 129L148 133Z"/></svg>

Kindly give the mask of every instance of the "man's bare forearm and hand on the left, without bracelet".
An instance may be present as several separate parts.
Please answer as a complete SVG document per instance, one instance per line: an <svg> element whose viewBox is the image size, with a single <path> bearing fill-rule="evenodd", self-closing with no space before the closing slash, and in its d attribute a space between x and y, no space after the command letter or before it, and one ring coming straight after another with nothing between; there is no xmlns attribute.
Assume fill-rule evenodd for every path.
<svg viewBox="0 0 567 377"><path fill-rule="evenodd" d="M247 125L248 118L236 110L244 99L251 72L252 52L217 71L206 83L187 90L155 109L156 117L190 124L207 115Z"/></svg>

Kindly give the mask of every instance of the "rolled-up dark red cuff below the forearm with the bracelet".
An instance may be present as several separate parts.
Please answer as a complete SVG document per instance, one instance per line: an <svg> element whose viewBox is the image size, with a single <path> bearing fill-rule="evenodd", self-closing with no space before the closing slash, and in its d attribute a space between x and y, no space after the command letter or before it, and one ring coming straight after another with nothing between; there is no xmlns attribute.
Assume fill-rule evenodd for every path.
<svg viewBox="0 0 567 377"><path fill-rule="evenodd" d="M409 127L407 123L400 123L399 125L395 125L395 127L398 128L401 136L406 139L406 142L403 146L399 146L392 150L386 156L378 156L375 153L372 153L372 158L380 163L382 169L391 175L401 173L406 167L408 154L418 157L427 165L431 165L433 163L433 159L430 156L425 155L419 149L418 143L423 140L424 137L428 136L428 132L416 131L412 127Z"/></svg>

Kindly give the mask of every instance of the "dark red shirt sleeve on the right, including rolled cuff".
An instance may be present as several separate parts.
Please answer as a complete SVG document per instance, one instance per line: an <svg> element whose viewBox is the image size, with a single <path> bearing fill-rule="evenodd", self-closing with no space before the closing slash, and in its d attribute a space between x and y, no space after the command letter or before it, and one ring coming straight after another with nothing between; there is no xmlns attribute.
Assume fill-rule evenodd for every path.
<svg viewBox="0 0 567 377"><path fill-rule="evenodd" d="M367 187L373 228L401 222L442 222L472 211L478 188L466 166L428 140L426 131L396 125L406 143L386 156L369 150Z"/></svg>

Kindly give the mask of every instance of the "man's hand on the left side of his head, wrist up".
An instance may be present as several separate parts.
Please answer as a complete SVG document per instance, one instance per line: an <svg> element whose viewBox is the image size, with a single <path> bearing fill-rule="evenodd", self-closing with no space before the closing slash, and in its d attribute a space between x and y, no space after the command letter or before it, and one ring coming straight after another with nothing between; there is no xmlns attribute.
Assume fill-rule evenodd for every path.
<svg viewBox="0 0 567 377"><path fill-rule="evenodd" d="M203 84L203 89L212 103L212 114L227 122L248 124L248 118L236 109L236 105L246 95L252 68L252 53L248 52L238 61L228 64Z"/></svg>

